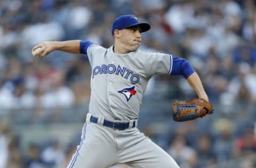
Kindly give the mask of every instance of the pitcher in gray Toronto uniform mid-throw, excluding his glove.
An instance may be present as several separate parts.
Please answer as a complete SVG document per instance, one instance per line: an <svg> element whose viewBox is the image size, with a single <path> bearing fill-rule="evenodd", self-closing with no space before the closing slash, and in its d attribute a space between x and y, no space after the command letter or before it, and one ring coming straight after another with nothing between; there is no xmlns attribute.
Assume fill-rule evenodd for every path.
<svg viewBox="0 0 256 168"><path fill-rule="evenodd" d="M81 143L68 168L105 168L116 163L131 167L179 167L169 154L137 129L147 83L154 74L183 75L199 98L206 102L209 99L187 60L139 50L141 33L149 29L150 25L140 22L136 16L122 15L113 22L114 45L109 48L92 41L69 40L45 41L32 49L33 55L39 58L59 50L85 54L90 61L89 113ZM177 117L180 117L179 107L175 108Z"/></svg>

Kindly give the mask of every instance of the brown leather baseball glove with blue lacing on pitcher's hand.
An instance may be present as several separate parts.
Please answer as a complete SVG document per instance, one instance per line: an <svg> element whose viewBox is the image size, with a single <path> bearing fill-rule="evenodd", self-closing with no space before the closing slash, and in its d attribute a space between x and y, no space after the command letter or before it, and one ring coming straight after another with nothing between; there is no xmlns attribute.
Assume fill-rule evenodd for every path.
<svg viewBox="0 0 256 168"><path fill-rule="evenodd" d="M206 114L212 114L213 110L212 105L204 98L194 98L184 101L173 100L172 102L173 120L178 122L195 120Z"/></svg>

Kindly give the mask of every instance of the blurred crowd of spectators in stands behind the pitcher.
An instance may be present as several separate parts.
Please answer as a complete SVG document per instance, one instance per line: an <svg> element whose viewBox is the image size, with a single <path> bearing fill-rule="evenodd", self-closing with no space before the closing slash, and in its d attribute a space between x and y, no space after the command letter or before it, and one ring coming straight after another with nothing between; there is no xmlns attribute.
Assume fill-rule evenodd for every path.
<svg viewBox="0 0 256 168"><path fill-rule="evenodd" d="M139 129L183 168L256 167L254 0L0 0L0 168L65 167L79 144L90 99L84 55L31 48L84 39L109 47L111 23L135 14L151 24L143 51L187 58L215 107L177 123L173 99L196 95L183 77L150 80ZM100 149L99 149L100 150Z"/></svg>

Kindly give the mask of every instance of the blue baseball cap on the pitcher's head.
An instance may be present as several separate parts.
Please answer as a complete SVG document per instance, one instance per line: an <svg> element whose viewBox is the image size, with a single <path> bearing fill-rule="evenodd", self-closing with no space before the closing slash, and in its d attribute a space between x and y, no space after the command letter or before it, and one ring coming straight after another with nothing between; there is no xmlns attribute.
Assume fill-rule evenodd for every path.
<svg viewBox="0 0 256 168"><path fill-rule="evenodd" d="M150 25L145 22L139 22L136 16L129 14L129 15L121 15L118 18L116 18L112 24L112 36L114 35L114 30L121 30L130 28L133 26L140 26L141 32L148 31L150 29Z"/></svg>

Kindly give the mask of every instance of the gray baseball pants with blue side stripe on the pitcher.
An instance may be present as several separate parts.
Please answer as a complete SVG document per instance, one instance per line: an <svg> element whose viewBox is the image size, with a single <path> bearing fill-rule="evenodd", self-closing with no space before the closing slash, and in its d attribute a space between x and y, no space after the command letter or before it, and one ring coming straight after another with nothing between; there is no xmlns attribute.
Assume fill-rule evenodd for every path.
<svg viewBox="0 0 256 168"><path fill-rule="evenodd" d="M137 128L114 130L86 120L81 143L68 168L107 168L116 163L131 167L179 168L169 154Z"/></svg>

